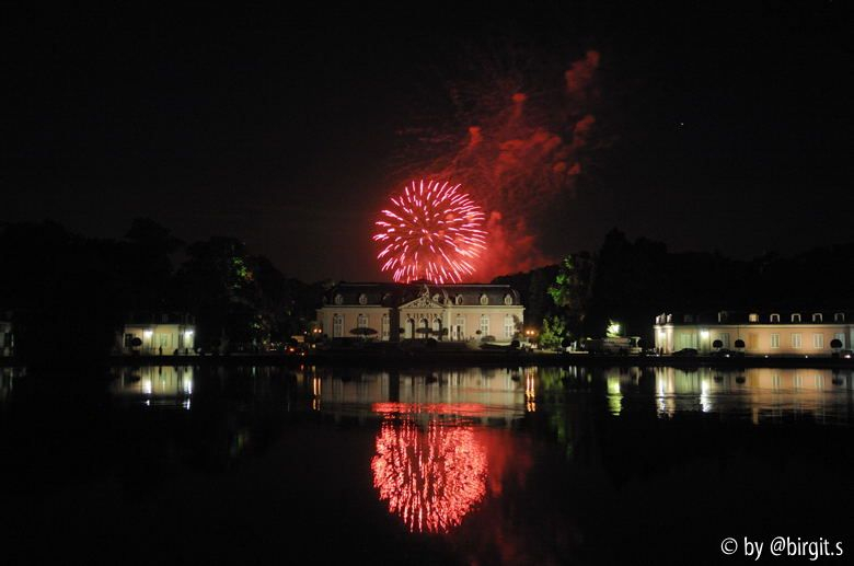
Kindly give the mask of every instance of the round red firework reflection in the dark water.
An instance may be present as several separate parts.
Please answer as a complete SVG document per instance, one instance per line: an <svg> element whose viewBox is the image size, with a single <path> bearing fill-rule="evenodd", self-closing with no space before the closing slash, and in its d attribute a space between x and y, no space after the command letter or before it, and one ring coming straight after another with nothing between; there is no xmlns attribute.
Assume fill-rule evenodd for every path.
<svg viewBox="0 0 854 566"><path fill-rule="evenodd" d="M384 404L382 404L384 405ZM486 450L471 426L388 416L371 460L373 485L409 531L447 532L486 495Z"/></svg>

